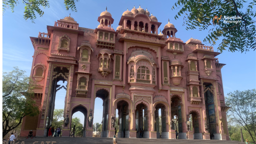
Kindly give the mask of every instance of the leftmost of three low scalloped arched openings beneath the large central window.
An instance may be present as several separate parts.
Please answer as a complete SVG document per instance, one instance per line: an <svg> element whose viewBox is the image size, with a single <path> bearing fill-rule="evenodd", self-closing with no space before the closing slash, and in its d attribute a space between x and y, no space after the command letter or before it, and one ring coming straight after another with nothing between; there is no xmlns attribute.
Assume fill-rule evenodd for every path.
<svg viewBox="0 0 256 144"><path fill-rule="evenodd" d="M118 138L129 138L129 104L125 100L121 100L117 102L117 110L118 110L118 125L119 132ZM125 135L123 131L125 132Z"/></svg>

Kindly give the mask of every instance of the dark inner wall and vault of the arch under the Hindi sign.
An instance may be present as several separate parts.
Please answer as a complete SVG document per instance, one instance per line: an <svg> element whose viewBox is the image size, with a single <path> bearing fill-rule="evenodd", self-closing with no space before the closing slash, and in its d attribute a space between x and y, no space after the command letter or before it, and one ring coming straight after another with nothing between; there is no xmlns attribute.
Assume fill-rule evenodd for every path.
<svg viewBox="0 0 256 144"><path fill-rule="evenodd" d="M100 89L96 92L96 97L103 100L103 114L102 114L102 129L101 137L108 137L109 130L109 92L105 89ZM94 115L94 114L93 114Z"/></svg>

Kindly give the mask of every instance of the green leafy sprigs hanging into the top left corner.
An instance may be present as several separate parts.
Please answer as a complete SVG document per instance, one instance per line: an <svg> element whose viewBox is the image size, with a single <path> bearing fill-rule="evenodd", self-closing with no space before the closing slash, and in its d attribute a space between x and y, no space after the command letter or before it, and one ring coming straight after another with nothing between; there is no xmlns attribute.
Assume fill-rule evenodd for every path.
<svg viewBox="0 0 256 144"><path fill-rule="evenodd" d="M10 8L14 12L14 8L19 4L19 1L25 4L24 19L30 19L32 23L35 23L36 16L40 17L44 15L42 7L49 8L50 4L48 0L3 0L3 13L5 13L5 8ZM71 11L77 12L76 2L79 0L64 0L66 10L71 9ZM37 14L36 14L37 13Z"/></svg>

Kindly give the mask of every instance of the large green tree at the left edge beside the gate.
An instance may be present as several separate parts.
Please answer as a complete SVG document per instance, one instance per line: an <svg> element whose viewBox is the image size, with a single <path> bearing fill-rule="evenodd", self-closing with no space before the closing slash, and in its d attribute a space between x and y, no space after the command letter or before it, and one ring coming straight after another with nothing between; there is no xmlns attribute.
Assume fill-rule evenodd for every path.
<svg viewBox="0 0 256 144"><path fill-rule="evenodd" d="M35 86L33 79L18 67L3 73L3 138L18 127L25 116L39 114L39 108L33 100Z"/></svg>

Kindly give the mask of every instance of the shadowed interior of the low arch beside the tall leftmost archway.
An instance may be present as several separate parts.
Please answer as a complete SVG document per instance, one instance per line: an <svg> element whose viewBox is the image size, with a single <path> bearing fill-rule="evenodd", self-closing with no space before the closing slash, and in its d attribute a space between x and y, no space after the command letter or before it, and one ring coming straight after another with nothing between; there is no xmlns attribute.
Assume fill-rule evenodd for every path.
<svg viewBox="0 0 256 144"><path fill-rule="evenodd" d="M84 115L84 121L81 121L83 124L83 128L78 128L78 125L76 125L76 131L79 129L79 131L83 131L83 137L85 137L86 134L86 121L87 121L87 109L83 107L82 105L78 105L77 107L73 108L72 110L72 115L71 115L71 125L72 125L72 119L73 119L73 114L80 111ZM73 126L73 125L72 125ZM71 126L71 128L72 128Z"/></svg>

